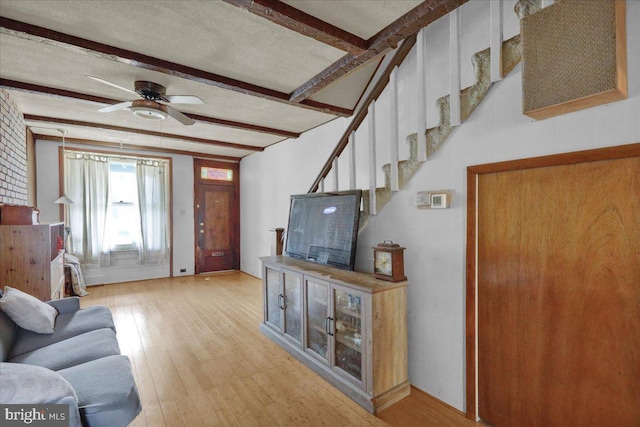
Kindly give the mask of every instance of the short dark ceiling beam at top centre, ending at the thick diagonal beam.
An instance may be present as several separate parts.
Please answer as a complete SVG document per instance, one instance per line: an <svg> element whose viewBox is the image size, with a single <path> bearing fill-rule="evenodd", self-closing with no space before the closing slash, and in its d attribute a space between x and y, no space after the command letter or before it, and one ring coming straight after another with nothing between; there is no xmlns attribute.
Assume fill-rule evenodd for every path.
<svg viewBox="0 0 640 427"><path fill-rule="evenodd" d="M368 47L366 40L279 0L224 1L289 30L353 55L364 53Z"/></svg>

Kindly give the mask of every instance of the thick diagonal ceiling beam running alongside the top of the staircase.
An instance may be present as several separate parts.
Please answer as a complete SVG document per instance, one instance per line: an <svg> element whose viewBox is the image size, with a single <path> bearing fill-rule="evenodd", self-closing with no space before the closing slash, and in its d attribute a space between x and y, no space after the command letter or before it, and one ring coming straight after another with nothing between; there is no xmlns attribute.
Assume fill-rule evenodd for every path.
<svg viewBox="0 0 640 427"><path fill-rule="evenodd" d="M329 86L345 74L365 64L378 55L395 49L398 43L416 34L421 28L469 0L425 0L409 12L396 19L368 40L369 48L359 55L347 54L325 68L291 93L291 101L306 102L309 97Z"/></svg>

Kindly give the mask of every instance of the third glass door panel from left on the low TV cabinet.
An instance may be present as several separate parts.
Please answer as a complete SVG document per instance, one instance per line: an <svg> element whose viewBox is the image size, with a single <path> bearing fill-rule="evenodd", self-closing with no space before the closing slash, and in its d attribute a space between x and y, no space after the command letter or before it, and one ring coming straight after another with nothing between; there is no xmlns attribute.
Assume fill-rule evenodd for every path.
<svg viewBox="0 0 640 427"><path fill-rule="evenodd" d="M306 348L328 362L329 286L307 280Z"/></svg>

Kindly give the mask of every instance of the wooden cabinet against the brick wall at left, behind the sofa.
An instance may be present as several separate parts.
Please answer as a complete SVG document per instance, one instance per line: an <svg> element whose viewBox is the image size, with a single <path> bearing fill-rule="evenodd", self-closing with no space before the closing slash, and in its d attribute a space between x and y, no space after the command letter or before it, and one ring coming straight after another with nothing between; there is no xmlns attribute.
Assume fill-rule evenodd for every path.
<svg viewBox="0 0 640 427"><path fill-rule="evenodd" d="M64 296L64 224L0 225L0 287L48 301Z"/></svg>

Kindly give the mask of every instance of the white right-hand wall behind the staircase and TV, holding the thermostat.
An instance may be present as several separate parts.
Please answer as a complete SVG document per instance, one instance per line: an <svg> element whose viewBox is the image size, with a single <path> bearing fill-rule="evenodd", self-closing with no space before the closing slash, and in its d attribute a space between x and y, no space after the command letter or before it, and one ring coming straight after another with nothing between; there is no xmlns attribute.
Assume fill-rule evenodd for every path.
<svg viewBox="0 0 640 427"><path fill-rule="evenodd" d="M513 2L515 3L515 2ZM489 2L473 1L462 10L463 43L483 44L488 31ZM513 4L505 4L506 37L517 29ZM478 16L477 26L473 16ZM428 28L430 100L429 126L435 125L433 102L448 85L448 24L440 20ZM515 23L514 23L515 19ZM516 30L517 31L517 30ZM444 45L443 43L444 40ZM466 42L465 42L466 40ZM440 46L440 47L439 47ZM444 46L442 48L441 46ZM470 165L640 142L640 2L627 2L629 98L544 121L521 114L521 66L496 83L478 109L397 193L358 239L357 269L371 271L371 247L391 239L407 248L409 278L409 379L418 388L465 410L465 233L466 168ZM461 47L475 52L484 45ZM448 54L447 54L448 55ZM465 63L463 58L463 63ZM401 66L399 108L401 135L416 131L415 51ZM469 71L463 71L463 81ZM467 82L467 85L470 81ZM388 135L383 118L385 94L378 109L378 135ZM387 112L388 114L388 112ZM408 119L406 119L408 117ZM328 154L346 128L341 119L277 144L241 162L241 229L243 271L259 276L259 256L269 255L271 227L286 227L290 194L308 190ZM366 121L357 132L364 144ZM379 137L381 141L383 138ZM402 143L404 144L404 143ZM406 152L406 148L403 147ZM366 152L357 145L360 160ZM341 163L342 166L343 163ZM346 165L346 163L344 163ZM344 169L345 166L343 166ZM343 171L340 172L343 176ZM358 185L366 188L366 166L358 164ZM380 174L381 176L381 174ZM327 180L330 182L330 179ZM348 180L343 181L344 186ZM342 187L341 185L341 187ZM331 190L329 185L328 190ZM418 210L413 195L419 190L451 189L448 210Z"/></svg>

